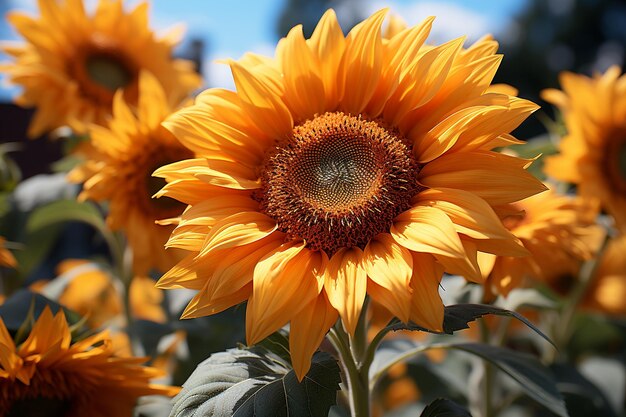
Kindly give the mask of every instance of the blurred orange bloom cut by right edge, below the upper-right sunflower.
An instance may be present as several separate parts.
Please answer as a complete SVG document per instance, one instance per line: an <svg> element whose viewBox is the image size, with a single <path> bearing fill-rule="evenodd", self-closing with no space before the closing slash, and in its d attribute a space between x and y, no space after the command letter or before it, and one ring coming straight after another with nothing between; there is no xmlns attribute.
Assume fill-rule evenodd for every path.
<svg viewBox="0 0 626 417"><path fill-rule="evenodd" d="M583 299L592 310L626 317L626 236L612 239Z"/></svg>

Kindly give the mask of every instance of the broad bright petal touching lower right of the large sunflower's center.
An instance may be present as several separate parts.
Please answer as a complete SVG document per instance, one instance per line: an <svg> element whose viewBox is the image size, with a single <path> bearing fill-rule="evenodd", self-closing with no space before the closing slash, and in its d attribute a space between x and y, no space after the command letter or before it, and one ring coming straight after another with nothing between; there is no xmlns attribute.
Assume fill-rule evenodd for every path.
<svg viewBox="0 0 626 417"><path fill-rule="evenodd" d="M434 207L416 206L394 219L391 236L415 252L438 253L453 258L465 257L461 239L446 214Z"/></svg>

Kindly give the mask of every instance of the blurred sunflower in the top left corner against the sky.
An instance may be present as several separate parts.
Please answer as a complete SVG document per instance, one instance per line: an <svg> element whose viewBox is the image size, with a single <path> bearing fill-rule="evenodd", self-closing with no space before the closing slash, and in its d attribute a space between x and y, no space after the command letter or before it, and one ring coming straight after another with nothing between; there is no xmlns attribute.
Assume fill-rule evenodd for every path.
<svg viewBox="0 0 626 417"><path fill-rule="evenodd" d="M16 102L35 107L28 135L36 137L59 126L79 132L88 123L104 124L115 91L137 102L139 73L155 75L172 100L181 100L200 84L191 62L173 60L181 31L158 39L148 27L148 3L124 11L122 0L100 0L93 15L82 0L39 0L41 16L11 12L7 20L26 39L5 43L14 62L0 71L23 87Z"/></svg>

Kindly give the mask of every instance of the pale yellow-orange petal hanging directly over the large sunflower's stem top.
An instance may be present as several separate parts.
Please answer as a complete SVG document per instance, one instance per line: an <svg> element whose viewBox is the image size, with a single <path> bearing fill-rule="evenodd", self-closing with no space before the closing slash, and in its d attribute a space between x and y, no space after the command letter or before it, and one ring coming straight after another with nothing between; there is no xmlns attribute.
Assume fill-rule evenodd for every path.
<svg viewBox="0 0 626 417"><path fill-rule="evenodd" d="M357 247L339 249L330 258L325 273L328 299L351 335L356 331L367 292L367 273L362 258L363 252Z"/></svg>

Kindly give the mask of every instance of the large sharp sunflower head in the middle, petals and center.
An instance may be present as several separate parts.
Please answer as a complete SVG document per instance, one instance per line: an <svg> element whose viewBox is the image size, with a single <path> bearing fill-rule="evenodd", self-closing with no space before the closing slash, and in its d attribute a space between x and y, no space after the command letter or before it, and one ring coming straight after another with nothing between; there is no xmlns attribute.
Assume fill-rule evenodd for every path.
<svg viewBox="0 0 626 417"><path fill-rule="evenodd" d="M200 94L164 125L198 157L160 168L189 204L168 246L190 254L162 288L198 290L184 317L248 300L248 343L287 322L297 374L366 294L441 329L444 270L482 279L477 251L525 255L492 206L544 189L529 161L491 151L537 106L490 90L497 43L424 46L433 19L381 34L385 10L344 37L326 12L275 59L231 62L236 92Z"/></svg>

